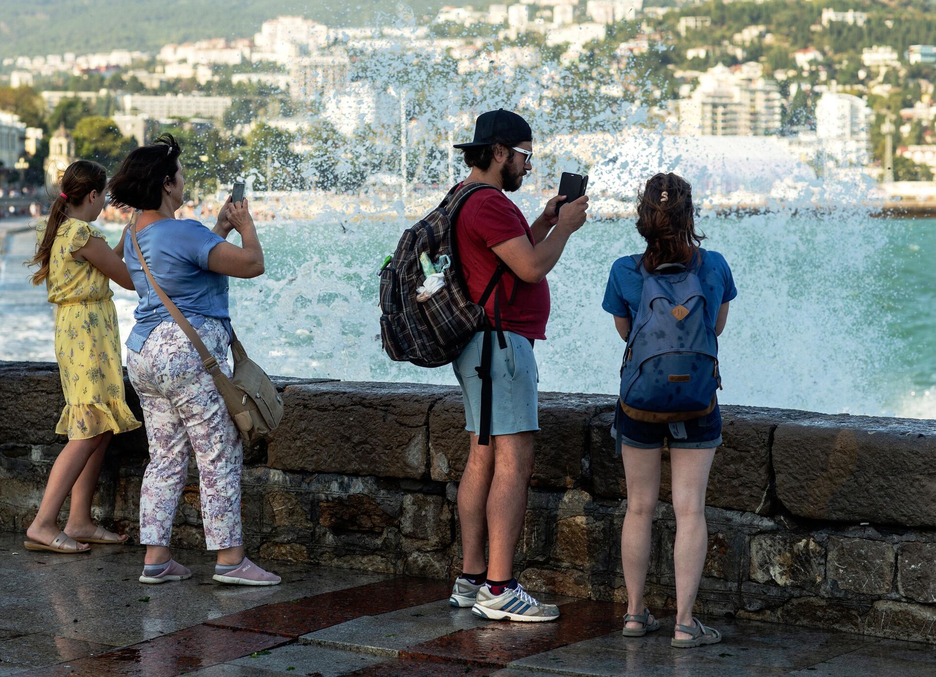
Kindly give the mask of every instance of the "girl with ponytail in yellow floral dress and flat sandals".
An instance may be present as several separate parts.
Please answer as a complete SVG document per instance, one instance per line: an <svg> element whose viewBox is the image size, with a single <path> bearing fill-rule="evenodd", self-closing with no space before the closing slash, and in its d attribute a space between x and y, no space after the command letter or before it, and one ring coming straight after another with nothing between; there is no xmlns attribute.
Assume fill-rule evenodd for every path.
<svg viewBox="0 0 936 677"><path fill-rule="evenodd" d="M110 438L140 425L124 400L120 331L109 284L110 278L134 288L122 260L124 238L111 249L89 224L104 207L106 183L107 172L97 163L71 164L49 220L37 228L31 263L39 270L32 282L44 281L49 301L57 305L55 358L66 405L55 432L68 435L68 443L52 465L36 519L26 530L27 550L88 552L88 543L126 540L91 520L91 501ZM69 492L71 509L61 531L58 513Z"/></svg>

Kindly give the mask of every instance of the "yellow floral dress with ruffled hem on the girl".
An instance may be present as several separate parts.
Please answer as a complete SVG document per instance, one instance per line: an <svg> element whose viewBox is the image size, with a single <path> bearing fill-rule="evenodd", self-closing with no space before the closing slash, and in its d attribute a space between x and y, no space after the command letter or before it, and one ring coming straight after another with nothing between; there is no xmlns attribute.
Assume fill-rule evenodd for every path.
<svg viewBox="0 0 936 677"><path fill-rule="evenodd" d="M45 224L37 228L37 239ZM140 423L124 400L120 329L110 280L89 261L72 253L101 231L75 218L58 228L52 243L46 288L55 315L55 358L65 393L57 434L88 439L113 431L125 433Z"/></svg>

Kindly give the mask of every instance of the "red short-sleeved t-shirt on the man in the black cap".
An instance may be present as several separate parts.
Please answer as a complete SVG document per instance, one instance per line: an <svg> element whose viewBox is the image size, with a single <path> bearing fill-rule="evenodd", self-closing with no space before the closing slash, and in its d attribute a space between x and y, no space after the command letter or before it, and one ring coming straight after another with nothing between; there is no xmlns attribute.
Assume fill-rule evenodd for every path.
<svg viewBox="0 0 936 677"><path fill-rule="evenodd" d="M500 259L491 247L525 235L534 243L533 233L523 213L500 190L479 190L461 207L455 237L461 274L472 301L477 302L488 287ZM516 285L516 293L514 286ZM545 339L549 319L549 283L544 278L532 285L505 272L501 291L501 327L529 339ZM511 294L514 302L510 301ZM494 295L485 304L488 320L494 322Z"/></svg>

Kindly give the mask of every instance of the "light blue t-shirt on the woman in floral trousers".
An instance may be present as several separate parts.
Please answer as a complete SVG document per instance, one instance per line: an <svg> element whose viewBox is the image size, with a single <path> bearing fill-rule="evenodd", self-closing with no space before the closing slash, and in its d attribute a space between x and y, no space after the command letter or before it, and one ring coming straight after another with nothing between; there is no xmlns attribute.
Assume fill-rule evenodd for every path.
<svg viewBox="0 0 936 677"><path fill-rule="evenodd" d="M208 317L216 317L224 322L230 336L227 275L208 270L208 255L214 245L225 242L224 238L193 219L166 218L140 230L137 240L159 287L185 319L197 329ZM137 323L126 339L126 346L139 353L160 322L175 320L150 286L129 236L124 241L124 260L139 294L133 312Z"/></svg>

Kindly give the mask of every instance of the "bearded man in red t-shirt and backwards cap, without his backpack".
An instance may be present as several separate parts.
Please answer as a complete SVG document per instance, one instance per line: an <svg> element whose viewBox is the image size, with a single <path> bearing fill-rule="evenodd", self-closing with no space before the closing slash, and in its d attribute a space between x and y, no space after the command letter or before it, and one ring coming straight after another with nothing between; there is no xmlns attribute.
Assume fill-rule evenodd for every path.
<svg viewBox="0 0 936 677"><path fill-rule="evenodd" d="M504 192L519 190L533 169L533 132L517 113L490 110L477 118L475 140L455 146L471 173L465 184L490 184L461 207L455 228L458 262L471 298L480 300L498 265L506 272L485 303L488 321L500 327L490 350L490 444L478 444L482 431L482 388L478 374L490 332L478 331L454 362L465 407L471 449L459 484L462 574L449 602L473 607L476 615L512 621L552 621L559 609L541 604L513 576L533 472L533 433L539 372L535 339L546 338L549 285L546 275L562 256L569 237L585 223L588 198L563 205L550 199L527 224ZM503 335L504 341L500 340ZM489 563L485 567L485 544ZM471 572L477 573L471 573Z"/></svg>

